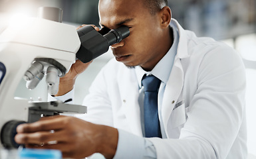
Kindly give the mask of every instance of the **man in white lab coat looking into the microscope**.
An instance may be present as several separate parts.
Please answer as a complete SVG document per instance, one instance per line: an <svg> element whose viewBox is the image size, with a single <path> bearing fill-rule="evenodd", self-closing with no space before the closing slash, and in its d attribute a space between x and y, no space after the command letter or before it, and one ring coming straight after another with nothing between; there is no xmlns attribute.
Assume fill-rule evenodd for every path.
<svg viewBox="0 0 256 159"><path fill-rule="evenodd" d="M20 125L16 142L72 158L246 158L245 71L234 50L184 30L164 0L100 0L99 15L102 27L126 25L130 36L111 46L115 60L84 99L88 115ZM70 97L87 66L72 65L57 99ZM152 116L148 77L160 81Z"/></svg>

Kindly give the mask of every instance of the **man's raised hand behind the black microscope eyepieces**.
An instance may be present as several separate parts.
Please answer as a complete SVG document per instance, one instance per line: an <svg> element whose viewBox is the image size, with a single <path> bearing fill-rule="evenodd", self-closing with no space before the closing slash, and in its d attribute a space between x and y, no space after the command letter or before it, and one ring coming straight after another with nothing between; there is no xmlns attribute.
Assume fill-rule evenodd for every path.
<svg viewBox="0 0 256 159"><path fill-rule="evenodd" d="M78 30L79 28L82 28L83 26L86 26L86 25L78 26L76 29ZM93 26L95 28L95 30L97 30L97 31L100 30L95 25L91 25L91 26ZM76 62L74 64L72 64L68 73L66 73L66 75L60 79L59 91L55 96L61 96L61 95L68 93L68 91L71 91L74 87L74 83L76 81L77 76L79 74L81 74L82 72L84 72L84 70L86 70L86 68L88 68L90 63L92 63L92 61L84 64L80 60L76 60Z"/></svg>

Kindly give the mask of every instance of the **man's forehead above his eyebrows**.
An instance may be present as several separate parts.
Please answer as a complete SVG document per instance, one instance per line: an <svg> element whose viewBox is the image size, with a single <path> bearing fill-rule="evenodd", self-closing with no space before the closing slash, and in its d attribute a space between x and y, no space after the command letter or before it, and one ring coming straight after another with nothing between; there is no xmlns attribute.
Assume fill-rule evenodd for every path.
<svg viewBox="0 0 256 159"><path fill-rule="evenodd" d="M100 0L98 11L102 25L116 25L126 19L141 19L147 14L142 0Z"/></svg>

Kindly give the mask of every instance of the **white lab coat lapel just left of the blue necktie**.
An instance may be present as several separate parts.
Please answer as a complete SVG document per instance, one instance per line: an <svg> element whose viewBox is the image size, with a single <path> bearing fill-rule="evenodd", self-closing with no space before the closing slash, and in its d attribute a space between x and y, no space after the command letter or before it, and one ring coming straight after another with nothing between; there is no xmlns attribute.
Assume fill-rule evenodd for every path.
<svg viewBox="0 0 256 159"><path fill-rule="evenodd" d="M138 104L139 86L135 72L126 68L119 78L122 107L124 107L126 119L130 125L130 131L138 136L142 136L140 106Z"/></svg>

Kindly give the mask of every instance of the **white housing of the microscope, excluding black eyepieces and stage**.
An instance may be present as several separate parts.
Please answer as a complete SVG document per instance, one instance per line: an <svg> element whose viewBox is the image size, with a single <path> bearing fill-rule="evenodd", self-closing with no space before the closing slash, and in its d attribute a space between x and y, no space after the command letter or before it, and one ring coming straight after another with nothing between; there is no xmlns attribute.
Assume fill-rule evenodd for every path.
<svg viewBox="0 0 256 159"><path fill-rule="evenodd" d="M59 85L59 77L68 72L80 48L74 26L38 18L27 19L25 25L20 25L9 27L0 35L0 63L5 68L0 74L0 129L8 121L28 121L29 99L16 98L14 94L31 64L39 62L43 67L41 73L44 76L55 74L53 82L56 83L53 84ZM51 69L47 72L48 68L55 72ZM29 80L27 76L25 79ZM0 144L0 148L2 146Z"/></svg>

